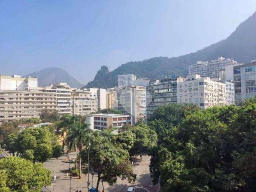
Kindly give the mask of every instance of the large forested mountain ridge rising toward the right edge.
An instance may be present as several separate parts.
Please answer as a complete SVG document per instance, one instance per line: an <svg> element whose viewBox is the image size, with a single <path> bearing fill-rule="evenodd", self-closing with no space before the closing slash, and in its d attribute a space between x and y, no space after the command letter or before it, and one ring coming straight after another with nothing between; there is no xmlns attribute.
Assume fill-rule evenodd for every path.
<svg viewBox="0 0 256 192"><path fill-rule="evenodd" d="M172 74L186 76L189 65L196 61L214 60L220 56L234 58L237 62L243 63L256 59L256 12L242 22L225 40L179 57L154 57L138 62L128 62L112 72L108 71L107 66L102 66L94 80L88 82L85 87L117 86L117 76L121 74L135 74L137 78L152 79L160 79Z"/></svg>

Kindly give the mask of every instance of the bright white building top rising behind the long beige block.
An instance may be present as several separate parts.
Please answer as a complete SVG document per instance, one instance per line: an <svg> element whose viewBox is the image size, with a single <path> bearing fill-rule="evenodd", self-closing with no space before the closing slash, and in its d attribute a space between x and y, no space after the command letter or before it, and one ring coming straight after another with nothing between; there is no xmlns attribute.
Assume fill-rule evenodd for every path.
<svg viewBox="0 0 256 192"><path fill-rule="evenodd" d="M30 87L37 87L36 77L22 78L20 75L0 75L0 90L30 90Z"/></svg>

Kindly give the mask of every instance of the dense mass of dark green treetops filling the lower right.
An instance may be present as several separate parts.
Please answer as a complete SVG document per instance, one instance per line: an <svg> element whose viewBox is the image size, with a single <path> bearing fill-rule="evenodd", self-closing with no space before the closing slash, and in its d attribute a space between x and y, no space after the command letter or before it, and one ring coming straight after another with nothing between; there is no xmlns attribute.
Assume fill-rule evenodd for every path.
<svg viewBox="0 0 256 192"><path fill-rule="evenodd" d="M173 104L150 119L153 183L163 192L256 191L256 99L242 106Z"/></svg>

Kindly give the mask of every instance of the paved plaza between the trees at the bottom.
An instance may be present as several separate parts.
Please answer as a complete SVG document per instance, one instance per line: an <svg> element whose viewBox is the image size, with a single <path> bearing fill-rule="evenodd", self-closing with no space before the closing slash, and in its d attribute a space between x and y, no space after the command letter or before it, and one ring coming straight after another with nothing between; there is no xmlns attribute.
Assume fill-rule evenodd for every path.
<svg viewBox="0 0 256 192"><path fill-rule="evenodd" d="M87 180L88 175L82 174L82 178L78 179L78 176L72 177L70 180L67 178L68 173L68 163L62 162L66 156L61 156L58 160L50 159L44 162L44 167L52 171L52 176L56 175L56 180L54 186L48 186L47 188L42 189L44 192L69 192L70 182L71 182L71 192L76 190L81 190L82 192L88 192ZM76 158L76 153L72 152L70 158ZM121 180L118 178L118 181L114 186L109 186L106 182L103 183L105 192L126 192L129 186L143 187L150 192L159 192L159 185L152 186L152 179L149 172L150 157L147 155L142 156L142 164L140 164L140 158L137 158L134 162L134 173L137 174L137 178L134 184L129 184L127 180ZM71 167L73 165L71 164ZM90 187L93 185L96 187L97 184L97 175L94 175L92 180L92 175L90 174ZM100 182L99 186L100 192L102 192L103 187ZM147 192L145 189L136 188L136 192Z"/></svg>

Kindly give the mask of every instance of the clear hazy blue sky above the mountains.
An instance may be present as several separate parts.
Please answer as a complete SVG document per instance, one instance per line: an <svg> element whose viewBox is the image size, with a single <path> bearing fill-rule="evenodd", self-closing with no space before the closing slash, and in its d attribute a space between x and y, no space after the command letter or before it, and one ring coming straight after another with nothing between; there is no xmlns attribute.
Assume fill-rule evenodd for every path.
<svg viewBox="0 0 256 192"><path fill-rule="evenodd" d="M0 73L61 67L83 84L154 56L227 38L256 0L0 0Z"/></svg>

